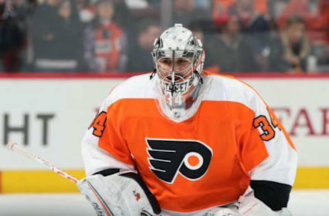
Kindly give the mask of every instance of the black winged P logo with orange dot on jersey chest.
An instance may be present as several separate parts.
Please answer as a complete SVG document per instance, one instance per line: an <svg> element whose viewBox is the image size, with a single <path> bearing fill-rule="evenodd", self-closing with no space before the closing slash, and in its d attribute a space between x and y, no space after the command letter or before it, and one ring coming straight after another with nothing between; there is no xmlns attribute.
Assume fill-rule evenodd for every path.
<svg viewBox="0 0 329 216"><path fill-rule="evenodd" d="M209 146L198 140L146 138L150 169L166 183L178 174L188 180L202 178L212 157Z"/></svg>

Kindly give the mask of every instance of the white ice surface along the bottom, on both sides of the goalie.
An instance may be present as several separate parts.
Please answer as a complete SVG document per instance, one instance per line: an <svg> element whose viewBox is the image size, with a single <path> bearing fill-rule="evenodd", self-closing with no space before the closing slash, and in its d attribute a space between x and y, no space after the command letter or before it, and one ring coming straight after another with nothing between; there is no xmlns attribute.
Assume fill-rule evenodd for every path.
<svg viewBox="0 0 329 216"><path fill-rule="evenodd" d="M329 190L293 190L289 201L293 216L328 216ZM79 193L3 194L1 216L95 216Z"/></svg>

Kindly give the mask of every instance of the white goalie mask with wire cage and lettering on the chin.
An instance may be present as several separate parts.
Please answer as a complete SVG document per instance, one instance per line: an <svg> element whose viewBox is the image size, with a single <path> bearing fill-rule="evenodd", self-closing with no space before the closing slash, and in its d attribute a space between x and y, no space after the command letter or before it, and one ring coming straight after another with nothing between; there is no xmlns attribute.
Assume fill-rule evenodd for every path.
<svg viewBox="0 0 329 216"><path fill-rule="evenodd" d="M180 121L195 103L202 85L202 42L182 24L175 24L156 39L152 56L163 96L160 99L165 104L160 111L166 109L167 117Z"/></svg>

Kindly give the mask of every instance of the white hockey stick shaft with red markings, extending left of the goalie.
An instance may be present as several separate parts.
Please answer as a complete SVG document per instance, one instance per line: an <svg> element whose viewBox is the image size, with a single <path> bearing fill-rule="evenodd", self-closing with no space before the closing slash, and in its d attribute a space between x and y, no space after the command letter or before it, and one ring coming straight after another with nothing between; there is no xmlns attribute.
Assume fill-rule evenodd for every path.
<svg viewBox="0 0 329 216"><path fill-rule="evenodd" d="M27 152L27 150L24 150L23 148L19 147L16 142L14 141L10 141L7 144L8 148L10 150L13 150L14 152L18 152L20 154L23 154L25 157L28 157L29 159L32 159L42 165L44 165L45 167L47 167L49 170L52 170L53 172L56 172L57 174L59 174L60 176L71 180L73 183L77 183L79 181L79 179L71 176L70 174L64 172L63 170L60 170L60 168L56 167L55 165L49 163L48 161L45 161L45 159L42 159L38 156L36 156L35 154L32 154L31 152Z"/></svg>

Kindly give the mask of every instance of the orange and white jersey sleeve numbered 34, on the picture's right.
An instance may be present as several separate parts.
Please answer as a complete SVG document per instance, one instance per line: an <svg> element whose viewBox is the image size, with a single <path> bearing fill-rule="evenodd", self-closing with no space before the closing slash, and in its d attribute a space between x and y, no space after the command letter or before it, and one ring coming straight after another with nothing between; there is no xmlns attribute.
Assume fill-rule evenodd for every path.
<svg viewBox="0 0 329 216"><path fill-rule="evenodd" d="M251 180L293 185L297 167L297 152L293 142L273 111L256 92L249 101L253 116L246 121L241 151L246 171Z"/></svg>

